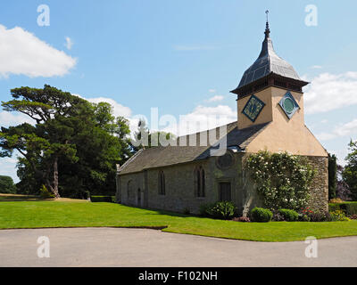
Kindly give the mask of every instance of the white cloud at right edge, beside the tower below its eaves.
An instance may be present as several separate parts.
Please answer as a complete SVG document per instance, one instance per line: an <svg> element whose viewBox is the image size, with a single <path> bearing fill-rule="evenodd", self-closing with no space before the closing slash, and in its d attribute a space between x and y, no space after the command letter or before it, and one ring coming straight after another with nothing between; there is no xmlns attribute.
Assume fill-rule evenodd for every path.
<svg viewBox="0 0 357 285"><path fill-rule="evenodd" d="M322 73L305 90L305 113L316 114L357 104L357 72Z"/></svg>

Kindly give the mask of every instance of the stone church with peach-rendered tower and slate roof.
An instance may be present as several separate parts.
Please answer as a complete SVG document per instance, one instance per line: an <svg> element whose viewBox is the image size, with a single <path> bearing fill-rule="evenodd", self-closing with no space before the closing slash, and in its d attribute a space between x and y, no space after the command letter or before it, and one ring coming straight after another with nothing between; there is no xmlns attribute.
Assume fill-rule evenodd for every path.
<svg viewBox="0 0 357 285"><path fill-rule="evenodd" d="M231 200L246 215L262 203L244 161L267 150L306 157L317 170L310 207L328 210L328 152L304 124L303 86L308 82L275 53L268 21L264 34L258 59L231 91L237 95L237 121L227 125L227 151L215 156L212 146L200 143L140 150L118 167L118 202L198 214L202 204ZM189 135L182 139L188 141Z"/></svg>

